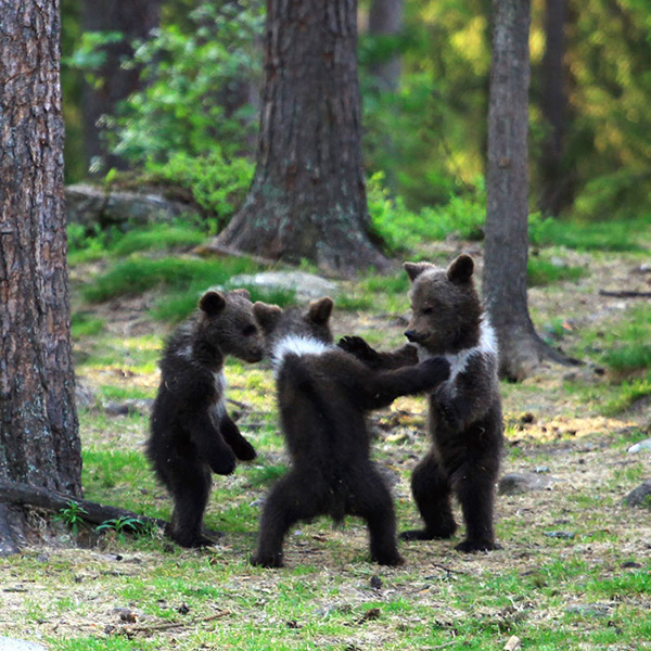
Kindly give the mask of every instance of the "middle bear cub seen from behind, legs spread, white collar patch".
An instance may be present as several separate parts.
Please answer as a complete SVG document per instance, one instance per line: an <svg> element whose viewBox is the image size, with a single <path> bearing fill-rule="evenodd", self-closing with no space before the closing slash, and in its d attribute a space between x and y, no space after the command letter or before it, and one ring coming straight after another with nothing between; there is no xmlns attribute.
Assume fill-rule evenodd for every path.
<svg viewBox="0 0 651 651"><path fill-rule="evenodd" d="M334 346L328 320L332 301L321 298L306 316L256 303L271 343L282 431L290 472L271 489L260 520L256 565L279 567L283 538L299 520L346 514L366 520L371 559L403 562L396 546L391 493L370 460L365 412L401 395L427 391L448 376L442 358L398 371L373 371Z"/></svg>

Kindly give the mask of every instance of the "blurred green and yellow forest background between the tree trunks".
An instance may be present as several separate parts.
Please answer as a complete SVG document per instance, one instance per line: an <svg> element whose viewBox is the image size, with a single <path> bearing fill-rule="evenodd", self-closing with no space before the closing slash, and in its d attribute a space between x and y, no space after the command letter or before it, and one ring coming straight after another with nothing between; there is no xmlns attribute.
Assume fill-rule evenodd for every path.
<svg viewBox="0 0 651 651"><path fill-rule="evenodd" d="M263 3L148 0L120 16L103 4L62 2L66 180L137 169L188 189L221 228L254 171ZM490 2L374 0L359 13L371 216L383 193L403 213L461 197L483 216ZM534 0L529 46L534 220L648 212L647 3ZM126 90L112 80L124 68L140 75Z"/></svg>

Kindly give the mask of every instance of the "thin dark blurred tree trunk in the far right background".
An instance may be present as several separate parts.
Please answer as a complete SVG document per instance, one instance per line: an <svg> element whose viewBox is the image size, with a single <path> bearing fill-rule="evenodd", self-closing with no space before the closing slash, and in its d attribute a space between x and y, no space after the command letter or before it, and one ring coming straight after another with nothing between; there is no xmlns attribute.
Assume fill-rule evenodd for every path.
<svg viewBox="0 0 651 651"><path fill-rule="evenodd" d="M572 203L571 175L564 167L564 139L567 119L565 92L565 38L567 0L547 0L545 14L545 56L541 67L540 110L548 129L540 156L540 209L559 215Z"/></svg>

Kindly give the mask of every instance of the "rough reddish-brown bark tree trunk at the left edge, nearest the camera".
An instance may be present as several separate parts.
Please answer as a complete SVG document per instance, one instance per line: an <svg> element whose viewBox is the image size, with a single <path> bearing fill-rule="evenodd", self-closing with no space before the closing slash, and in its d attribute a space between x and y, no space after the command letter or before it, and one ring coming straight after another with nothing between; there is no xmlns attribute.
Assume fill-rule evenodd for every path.
<svg viewBox="0 0 651 651"><path fill-rule="evenodd" d="M0 5L0 480L80 495L60 7L59 0ZM14 551L16 539L7 526L9 508L0 507L2 553Z"/></svg>

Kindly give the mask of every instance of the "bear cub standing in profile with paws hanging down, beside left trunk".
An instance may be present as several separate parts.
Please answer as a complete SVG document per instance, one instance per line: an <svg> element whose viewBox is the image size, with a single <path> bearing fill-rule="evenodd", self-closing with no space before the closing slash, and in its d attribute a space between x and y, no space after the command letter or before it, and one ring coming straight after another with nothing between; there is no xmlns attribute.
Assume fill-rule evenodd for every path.
<svg viewBox="0 0 651 651"><path fill-rule="evenodd" d="M206 292L196 314L169 339L151 418L148 456L174 499L171 537L182 547L210 545L202 533L210 471L230 474L235 457L255 458L226 411L224 359L263 358L263 336L246 290Z"/></svg>

